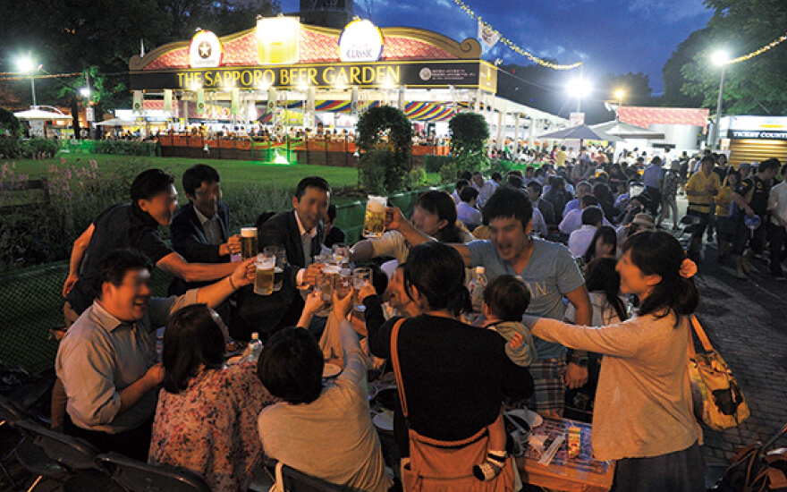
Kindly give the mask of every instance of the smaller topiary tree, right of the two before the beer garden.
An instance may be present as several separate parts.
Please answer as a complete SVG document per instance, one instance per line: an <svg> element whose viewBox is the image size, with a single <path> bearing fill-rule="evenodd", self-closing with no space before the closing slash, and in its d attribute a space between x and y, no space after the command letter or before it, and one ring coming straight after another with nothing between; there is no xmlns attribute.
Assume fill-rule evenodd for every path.
<svg viewBox="0 0 787 492"><path fill-rule="evenodd" d="M489 125L483 116L476 113L460 113L451 118L448 129L451 132L453 169L445 172L441 170L440 175L444 179L446 177L449 181L455 179L457 170L478 171L481 167L487 166Z"/></svg>

